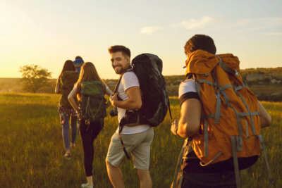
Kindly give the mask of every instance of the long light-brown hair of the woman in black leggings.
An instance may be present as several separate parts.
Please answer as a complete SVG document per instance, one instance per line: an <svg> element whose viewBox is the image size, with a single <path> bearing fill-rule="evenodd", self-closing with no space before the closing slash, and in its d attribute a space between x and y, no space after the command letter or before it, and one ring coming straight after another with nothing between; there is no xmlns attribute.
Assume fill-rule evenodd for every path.
<svg viewBox="0 0 282 188"><path fill-rule="evenodd" d="M78 91L78 99L81 98L81 94L80 94L81 83L85 82L85 80L91 80L91 79L101 82L103 86L103 92L104 94L106 94L105 84L99 77L95 66L91 62L86 62L81 66L80 77L78 78L78 82L75 83L75 86L77 86L77 91Z"/></svg>

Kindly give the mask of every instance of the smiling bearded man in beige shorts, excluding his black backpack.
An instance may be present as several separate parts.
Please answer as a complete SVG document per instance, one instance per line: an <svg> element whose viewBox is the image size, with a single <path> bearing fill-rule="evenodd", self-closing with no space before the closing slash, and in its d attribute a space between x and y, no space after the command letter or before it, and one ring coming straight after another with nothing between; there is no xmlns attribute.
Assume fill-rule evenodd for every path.
<svg viewBox="0 0 282 188"><path fill-rule="evenodd" d="M130 50L125 46L111 46L111 65L116 74L120 75L121 82L118 84L117 92L110 96L111 104L118 108L118 123L127 111L141 108L140 84L137 76L130 65ZM111 137L111 144L106 156L106 167L111 183L115 188L123 188L123 174L119 168L121 161L125 158L123 145L119 138L119 128ZM141 188L151 188L152 180L149 175L149 156L154 130L149 125L124 126L121 139L127 152L133 156L134 168L140 180Z"/></svg>

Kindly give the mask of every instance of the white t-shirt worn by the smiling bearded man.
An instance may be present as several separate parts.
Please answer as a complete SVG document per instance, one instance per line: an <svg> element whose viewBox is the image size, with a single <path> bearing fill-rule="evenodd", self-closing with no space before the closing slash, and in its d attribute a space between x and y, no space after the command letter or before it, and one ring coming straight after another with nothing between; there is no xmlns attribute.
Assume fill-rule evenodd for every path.
<svg viewBox="0 0 282 188"><path fill-rule="evenodd" d="M129 99L128 95L125 93L127 89L130 87L140 87L139 81L135 73L133 72L127 72L123 74L123 77L121 78L121 83L118 86L118 96L123 99L123 101ZM121 119L125 115L126 110L123 108L118 108L118 123L121 122ZM135 134L139 132L145 132L149 129L149 125L137 125L135 127L127 127L124 126L121 134ZM116 132L118 132L118 129Z"/></svg>

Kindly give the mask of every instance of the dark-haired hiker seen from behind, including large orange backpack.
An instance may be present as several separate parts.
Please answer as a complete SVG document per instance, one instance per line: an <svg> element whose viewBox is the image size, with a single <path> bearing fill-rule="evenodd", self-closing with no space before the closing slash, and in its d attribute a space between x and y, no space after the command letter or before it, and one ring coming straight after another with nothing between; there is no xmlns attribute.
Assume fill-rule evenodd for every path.
<svg viewBox="0 0 282 188"><path fill-rule="evenodd" d="M214 40L195 35L184 46L188 59L179 86L180 119L171 132L185 137L172 188L240 187L240 171L264 151L261 128L271 117L240 76L238 57L216 56ZM269 180L274 182L270 175Z"/></svg>

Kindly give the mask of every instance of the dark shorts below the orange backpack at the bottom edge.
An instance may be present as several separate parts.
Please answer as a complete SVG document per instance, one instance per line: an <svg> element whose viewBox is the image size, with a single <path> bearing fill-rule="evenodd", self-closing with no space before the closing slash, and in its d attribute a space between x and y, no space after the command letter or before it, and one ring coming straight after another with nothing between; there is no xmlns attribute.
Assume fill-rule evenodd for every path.
<svg viewBox="0 0 282 188"><path fill-rule="evenodd" d="M235 188L235 173L184 173L182 188Z"/></svg>

